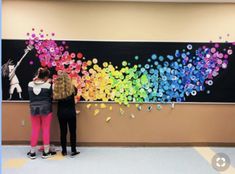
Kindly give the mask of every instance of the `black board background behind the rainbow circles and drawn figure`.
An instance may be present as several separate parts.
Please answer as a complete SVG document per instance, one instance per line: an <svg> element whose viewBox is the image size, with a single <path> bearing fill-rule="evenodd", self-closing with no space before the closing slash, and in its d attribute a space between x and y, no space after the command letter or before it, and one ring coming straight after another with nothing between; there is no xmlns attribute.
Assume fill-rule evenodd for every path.
<svg viewBox="0 0 235 174"><path fill-rule="evenodd" d="M61 41L56 42L61 43ZM181 56L178 55L178 58L176 58L176 50L179 50L181 53L186 53L188 51L187 48L189 47L189 44L191 44L192 46L192 48L189 48L191 54L188 55L189 60L187 59L187 62L182 63L184 65L187 65L190 62L193 63L197 49L203 46L206 46L208 48L213 47L213 43L179 42L66 41L66 44L68 46L67 49L70 52L81 52L85 58L83 60L92 60L93 58L96 58L100 67L102 67L103 62L108 62L111 63L113 66L117 66L117 70L121 69L123 66L133 67L134 65L137 65L140 71L141 68L145 68L145 70L142 69L143 72L146 72L146 69L148 69L148 66L145 66L146 64L150 66L149 69L153 68L160 71L159 66L157 67L157 65L154 64L154 62L156 61L158 61L158 65L161 65L161 68L164 68L164 66L170 67L173 62L177 61L179 64L182 63L183 61L179 60L183 59ZM229 48L231 48L233 54L229 55L228 58L226 58L226 60L228 61L227 68L221 68L219 70L219 74L213 78L213 85L204 84L203 91L197 91L197 94L195 96L185 95L184 101L235 102L235 46L229 43L220 43L220 48L218 48L217 50L223 52L227 51L227 49ZM13 61L12 63L16 65L20 58L24 55L25 49L26 44L24 40L2 40L2 64L5 64L9 59L11 59ZM36 57L36 54L37 53L35 49L29 51L29 53L22 60L15 72L22 88L23 100L28 100L27 84L35 76L38 67L41 66L39 59ZM173 57L169 55L173 55ZM159 56L163 56L164 60L159 60ZM128 65L123 65L123 61L126 61ZM174 67L174 70L176 69L177 68ZM206 71L205 69L198 70ZM55 68L51 68L51 71L52 74L55 73ZM186 73L187 75L187 72L184 73ZM195 76L197 78L200 78L197 75ZM190 78L190 76L188 76L187 78ZM159 79L164 80L163 77ZM182 81L182 83L187 84L187 82L185 82L187 81L187 79L182 79ZM9 98L9 89L9 77L2 77L3 100L7 100ZM153 88L152 90L154 89L156 88ZM172 95L170 94L170 92L167 92L167 88L165 87L163 88L163 93L165 93L166 95ZM152 97L149 101L158 101L157 98L158 97L153 100ZM12 100L20 101L16 90L13 93ZM146 99L145 102L147 101L148 100ZM174 98L171 101L177 100Z"/></svg>

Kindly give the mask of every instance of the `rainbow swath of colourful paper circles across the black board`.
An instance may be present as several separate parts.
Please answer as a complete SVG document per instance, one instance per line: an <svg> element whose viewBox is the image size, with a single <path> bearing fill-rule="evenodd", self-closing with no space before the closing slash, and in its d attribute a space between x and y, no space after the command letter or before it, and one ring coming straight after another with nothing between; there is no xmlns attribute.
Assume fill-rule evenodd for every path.
<svg viewBox="0 0 235 174"><path fill-rule="evenodd" d="M78 89L76 98L85 101L114 101L127 106L131 102L187 102L200 93L210 95L216 78L235 59L235 42L187 43L183 49L164 55L152 52L144 58L132 55L131 61L120 58L117 66L70 50L69 41L56 41L54 36L35 29L27 33L26 47L34 52L28 66L38 67L38 61L54 72L53 78L58 70L66 71Z"/></svg>

